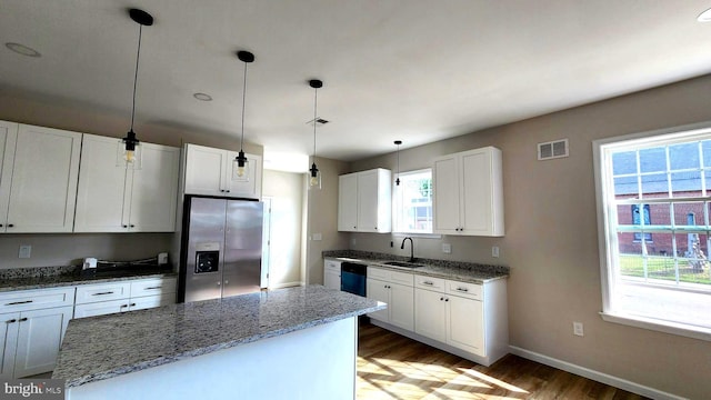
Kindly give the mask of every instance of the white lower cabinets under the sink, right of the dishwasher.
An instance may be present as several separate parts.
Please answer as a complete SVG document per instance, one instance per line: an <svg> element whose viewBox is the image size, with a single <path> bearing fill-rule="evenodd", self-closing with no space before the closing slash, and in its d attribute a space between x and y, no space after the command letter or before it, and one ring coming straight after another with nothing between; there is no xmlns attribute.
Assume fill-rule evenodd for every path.
<svg viewBox="0 0 711 400"><path fill-rule="evenodd" d="M509 351L507 280L461 282L369 267L373 323L483 366Z"/></svg>

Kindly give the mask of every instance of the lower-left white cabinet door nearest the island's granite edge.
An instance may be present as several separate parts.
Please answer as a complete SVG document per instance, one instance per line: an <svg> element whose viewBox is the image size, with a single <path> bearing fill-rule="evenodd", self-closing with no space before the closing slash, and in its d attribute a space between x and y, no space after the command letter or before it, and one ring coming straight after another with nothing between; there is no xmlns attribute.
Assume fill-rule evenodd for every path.
<svg viewBox="0 0 711 400"><path fill-rule="evenodd" d="M14 378L54 369L59 347L71 316L72 307L24 311L20 314Z"/></svg>

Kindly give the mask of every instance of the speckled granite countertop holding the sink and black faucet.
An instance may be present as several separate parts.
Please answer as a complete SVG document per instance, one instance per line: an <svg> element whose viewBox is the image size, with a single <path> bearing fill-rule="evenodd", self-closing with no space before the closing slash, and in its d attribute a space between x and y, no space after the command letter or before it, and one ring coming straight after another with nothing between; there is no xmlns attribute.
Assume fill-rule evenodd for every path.
<svg viewBox="0 0 711 400"><path fill-rule="evenodd" d="M369 252L359 250L332 250L323 251L323 258L336 259L340 261L361 262L379 268L392 269L401 272L412 272L414 274L452 279L462 282L484 283L497 279L505 279L509 277L509 267L503 266L485 266L472 262L444 261L432 259L415 259L415 263L423 267L407 268L388 266L387 261L408 261L408 258Z"/></svg>

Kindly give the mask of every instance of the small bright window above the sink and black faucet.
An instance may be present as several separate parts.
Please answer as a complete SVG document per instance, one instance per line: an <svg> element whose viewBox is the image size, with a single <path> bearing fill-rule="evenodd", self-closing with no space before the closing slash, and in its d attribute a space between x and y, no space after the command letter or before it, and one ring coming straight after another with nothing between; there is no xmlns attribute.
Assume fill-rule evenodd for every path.
<svg viewBox="0 0 711 400"><path fill-rule="evenodd" d="M393 190L394 231L432 233L432 170L400 172Z"/></svg>

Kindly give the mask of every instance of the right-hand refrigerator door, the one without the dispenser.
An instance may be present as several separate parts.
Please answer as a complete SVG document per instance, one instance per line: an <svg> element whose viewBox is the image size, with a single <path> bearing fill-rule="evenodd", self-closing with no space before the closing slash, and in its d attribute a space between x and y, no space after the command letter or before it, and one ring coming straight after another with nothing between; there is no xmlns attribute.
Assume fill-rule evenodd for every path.
<svg viewBox="0 0 711 400"><path fill-rule="evenodd" d="M262 207L257 201L228 200L222 297L260 290Z"/></svg>

